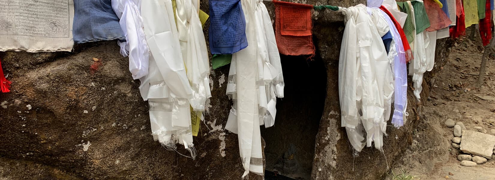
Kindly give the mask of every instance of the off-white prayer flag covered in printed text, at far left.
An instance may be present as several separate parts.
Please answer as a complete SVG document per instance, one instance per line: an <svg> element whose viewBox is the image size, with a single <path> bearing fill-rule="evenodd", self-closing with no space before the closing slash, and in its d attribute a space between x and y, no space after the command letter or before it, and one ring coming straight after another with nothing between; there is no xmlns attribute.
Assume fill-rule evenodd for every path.
<svg viewBox="0 0 495 180"><path fill-rule="evenodd" d="M1 4L0 51L72 50L73 0L2 0Z"/></svg>

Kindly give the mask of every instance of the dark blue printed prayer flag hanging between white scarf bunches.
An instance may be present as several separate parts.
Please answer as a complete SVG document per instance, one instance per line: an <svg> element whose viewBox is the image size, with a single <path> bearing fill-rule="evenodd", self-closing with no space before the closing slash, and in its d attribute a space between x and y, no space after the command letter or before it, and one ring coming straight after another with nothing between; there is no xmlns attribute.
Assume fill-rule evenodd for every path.
<svg viewBox="0 0 495 180"><path fill-rule="evenodd" d="M232 54L247 47L241 0L210 0L209 44L212 54Z"/></svg>

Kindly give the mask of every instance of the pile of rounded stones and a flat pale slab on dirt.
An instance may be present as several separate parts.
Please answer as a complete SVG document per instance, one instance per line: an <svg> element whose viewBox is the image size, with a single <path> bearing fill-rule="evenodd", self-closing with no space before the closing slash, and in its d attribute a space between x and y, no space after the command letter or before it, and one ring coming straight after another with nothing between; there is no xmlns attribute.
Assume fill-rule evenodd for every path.
<svg viewBox="0 0 495 180"><path fill-rule="evenodd" d="M462 122L455 123L451 119L447 119L445 125L453 128L452 147L464 153L457 156L460 165L476 166L486 163L488 159L495 159L494 135L466 130Z"/></svg>

